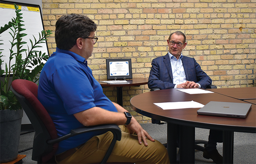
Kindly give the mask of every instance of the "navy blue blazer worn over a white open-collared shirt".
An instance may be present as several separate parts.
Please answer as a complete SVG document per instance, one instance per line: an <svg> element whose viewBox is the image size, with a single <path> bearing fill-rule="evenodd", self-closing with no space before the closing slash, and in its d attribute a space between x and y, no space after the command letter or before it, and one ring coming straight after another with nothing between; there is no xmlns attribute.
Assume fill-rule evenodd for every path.
<svg viewBox="0 0 256 164"><path fill-rule="evenodd" d="M194 58L183 56L181 59L188 81L199 83L205 89L212 84L212 79L201 69ZM174 88L172 67L168 53L152 60L152 67L148 77L148 88Z"/></svg>

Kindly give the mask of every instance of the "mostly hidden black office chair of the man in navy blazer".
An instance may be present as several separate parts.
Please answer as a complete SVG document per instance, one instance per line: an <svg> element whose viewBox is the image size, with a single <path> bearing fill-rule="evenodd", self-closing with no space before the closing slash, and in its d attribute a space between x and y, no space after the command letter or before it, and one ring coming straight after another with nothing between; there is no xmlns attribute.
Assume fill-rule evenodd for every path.
<svg viewBox="0 0 256 164"><path fill-rule="evenodd" d="M206 87L206 89L213 89L213 88L217 88L216 85L208 85ZM155 90L160 90L160 89L159 88L151 88L150 89L150 91L155 91ZM160 120L156 120L153 118L151 118L151 121L152 121L152 124L158 124L158 125L164 124L164 122L161 122ZM207 145L207 143L208 142L205 140L195 140L195 149L203 152L204 147ZM204 146L200 146L198 144L204 144ZM164 146L166 147L166 144L164 144Z"/></svg>

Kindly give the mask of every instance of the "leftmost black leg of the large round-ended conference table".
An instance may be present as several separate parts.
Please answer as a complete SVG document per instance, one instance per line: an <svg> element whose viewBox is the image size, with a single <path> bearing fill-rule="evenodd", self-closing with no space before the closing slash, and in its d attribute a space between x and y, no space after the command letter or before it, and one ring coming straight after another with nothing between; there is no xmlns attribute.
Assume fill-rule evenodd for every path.
<svg viewBox="0 0 256 164"><path fill-rule="evenodd" d="M167 123L167 151L171 163L176 163L178 127L179 125Z"/></svg>

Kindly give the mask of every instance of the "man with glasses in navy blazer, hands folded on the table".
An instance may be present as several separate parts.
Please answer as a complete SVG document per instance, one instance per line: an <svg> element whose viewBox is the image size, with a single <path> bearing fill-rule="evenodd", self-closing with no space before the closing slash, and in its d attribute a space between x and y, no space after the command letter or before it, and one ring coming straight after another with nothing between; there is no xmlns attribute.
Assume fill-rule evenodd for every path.
<svg viewBox="0 0 256 164"><path fill-rule="evenodd" d="M183 32L171 33L167 40L168 53L152 60L148 88L203 88L212 84L212 79L201 69L194 58L183 56L186 36ZM222 163L222 156L216 149L222 142L222 131L210 130L209 140L204 149L204 158Z"/></svg>

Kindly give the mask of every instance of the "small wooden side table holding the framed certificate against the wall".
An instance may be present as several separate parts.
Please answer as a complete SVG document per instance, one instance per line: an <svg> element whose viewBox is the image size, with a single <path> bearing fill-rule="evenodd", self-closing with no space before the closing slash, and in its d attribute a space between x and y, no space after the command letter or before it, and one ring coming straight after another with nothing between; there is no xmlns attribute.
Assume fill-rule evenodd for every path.
<svg viewBox="0 0 256 164"><path fill-rule="evenodd" d="M140 85L145 85L148 84L148 78L140 78L140 77L135 77L132 79L126 79L128 83L106 83L106 82L101 82L101 81L109 81L107 79L96 79L101 87L116 87L117 93L116 93L116 101L119 105L123 106L123 87L128 87L128 86L140 86Z"/></svg>

